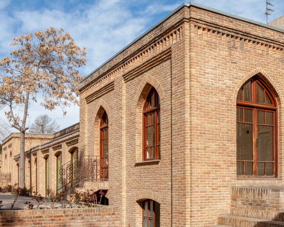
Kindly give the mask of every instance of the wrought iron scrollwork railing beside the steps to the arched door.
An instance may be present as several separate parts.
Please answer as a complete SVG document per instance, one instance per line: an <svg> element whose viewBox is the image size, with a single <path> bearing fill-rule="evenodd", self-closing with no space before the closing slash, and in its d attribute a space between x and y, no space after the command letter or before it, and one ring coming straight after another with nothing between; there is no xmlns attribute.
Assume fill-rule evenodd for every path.
<svg viewBox="0 0 284 227"><path fill-rule="evenodd" d="M57 191L73 193L75 187L83 187L85 181L108 180L108 157L92 156L71 160L57 169Z"/></svg>

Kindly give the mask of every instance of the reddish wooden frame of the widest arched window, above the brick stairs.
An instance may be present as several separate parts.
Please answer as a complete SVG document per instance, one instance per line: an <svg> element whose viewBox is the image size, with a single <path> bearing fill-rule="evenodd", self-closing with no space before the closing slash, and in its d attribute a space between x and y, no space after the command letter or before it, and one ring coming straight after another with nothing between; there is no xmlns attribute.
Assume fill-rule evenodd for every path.
<svg viewBox="0 0 284 227"><path fill-rule="evenodd" d="M243 87L247 83L251 83L251 102L249 101L244 101L244 91ZM256 91L256 85L260 85L260 87L264 90L264 100L265 94L268 95L270 98L270 101L272 104L266 104L266 103L258 103L257 102L257 91ZM242 109L251 109L252 110L252 123L247 123L244 121L244 111L243 111L243 121L236 121L237 123L246 123L246 124L251 124L252 125L252 175L245 175L245 161L247 160L237 160L237 161L242 161L243 162L243 175L237 175L237 178L275 178L278 176L277 169L278 169L278 146L277 146L277 135L278 135L278 119L277 119L277 101L275 96L273 95L271 89L266 85L266 83L257 75L252 77L250 80L246 81L239 92L241 91L242 94L242 100L237 100L236 101L236 107L237 108L242 108ZM266 102L266 101L264 101ZM258 125L267 125L267 124L259 124L258 123L258 111L265 111L265 112L272 112L273 113L273 161L258 161L258 146L257 146L257 133L258 133ZM258 163L260 162L265 162L265 170L264 176L258 176ZM272 176L266 176L266 163L273 163L273 175Z"/></svg>

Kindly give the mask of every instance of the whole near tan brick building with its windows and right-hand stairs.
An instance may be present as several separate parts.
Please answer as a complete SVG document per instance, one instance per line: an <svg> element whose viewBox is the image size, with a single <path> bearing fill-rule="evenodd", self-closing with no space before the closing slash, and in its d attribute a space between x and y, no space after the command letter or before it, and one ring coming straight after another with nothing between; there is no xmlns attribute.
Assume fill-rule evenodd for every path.
<svg viewBox="0 0 284 227"><path fill-rule="evenodd" d="M283 38L185 3L81 81L78 155L121 226L283 224Z"/></svg>

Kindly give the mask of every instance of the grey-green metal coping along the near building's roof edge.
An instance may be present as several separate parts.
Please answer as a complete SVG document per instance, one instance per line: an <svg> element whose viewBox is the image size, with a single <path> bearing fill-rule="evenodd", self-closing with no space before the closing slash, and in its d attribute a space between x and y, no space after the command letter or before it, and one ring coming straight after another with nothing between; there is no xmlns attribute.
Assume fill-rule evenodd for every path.
<svg viewBox="0 0 284 227"><path fill-rule="evenodd" d="M114 54L111 58L109 58L108 60L106 60L103 64L101 64L98 68L96 68L93 72L89 73L88 75L86 75L81 81L83 82L85 79L87 79L90 75L92 75L94 72L96 72L97 70L99 70L101 67L103 67L107 62L109 62L110 60L112 60L113 58L115 58L118 54L120 54L122 51L124 51L125 49L127 49L128 47L130 47L133 43L135 43L137 40L139 40L141 37L143 37L144 35L146 35L147 33L149 33L151 30L153 30L154 28L156 28L158 25L162 24L165 20L167 20L170 16L172 16L173 14L175 14L177 11L179 11L181 8L183 7L190 7L190 6L195 6L197 8L200 8L200 9L205 9L205 10L208 10L208 11L211 11L211 12L215 12L215 13L218 13L218 14L222 14L224 16L228 16L228 17L231 17L231 18L235 18L235 19L238 19L238 20L242 20L242 21L245 21L245 22L249 22L249 23L252 23L252 24L256 24L256 25L259 25L259 26L262 26L262 27L265 27L265 28L269 28L269 29L272 29L272 30L275 30L275 31L280 31L280 32L283 32L284 33L284 30L280 29L280 28L276 28L276 27L273 27L271 25L268 25L268 24L264 24L264 23L261 23L261 22L258 22L258 21L255 21L255 20L250 20L248 18L245 18L245 17L241 17L241 16L237 16L235 14L231 14L231 13L227 13L227 12L224 12L222 10L218 10L218 9L214 9L214 8L211 8L211 7L207 7L207 6L204 6L204 5L201 5L201 4L198 4L198 3L195 3L195 2L189 2L189 3L183 3L181 4L178 8L176 8L174 11L172 11L170 14L168 14L167 16L165 16L162 20L160 20L158 23L154 24L151 28L149 28L147 31L145 31L142 35L139 35L139 37L137 37L136 39L134 39L131 43L129 43L126 47L124 47L123 49L121 49L120 51L118 51L116 54Z"/></svg>

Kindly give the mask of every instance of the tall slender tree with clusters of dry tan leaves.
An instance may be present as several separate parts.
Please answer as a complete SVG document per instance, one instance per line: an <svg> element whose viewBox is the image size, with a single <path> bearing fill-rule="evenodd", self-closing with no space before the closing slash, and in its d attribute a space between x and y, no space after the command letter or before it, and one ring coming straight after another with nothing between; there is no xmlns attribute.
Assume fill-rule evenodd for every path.
<svg viewBox="0 0 284 227"><path fill-rule="evenodd" d="M50 27L14 38L11 58L0 61L0 108L11 126L20 131L20 177L19 187L25 186L25 132L30 101L37 102L40 92L43 99L40 106L54 110L71 104L79 104L77 96L82 76L77 68L85 65L85 48L74 43L63 29ZM7 109L6 109L7 108Z"/></svg>

